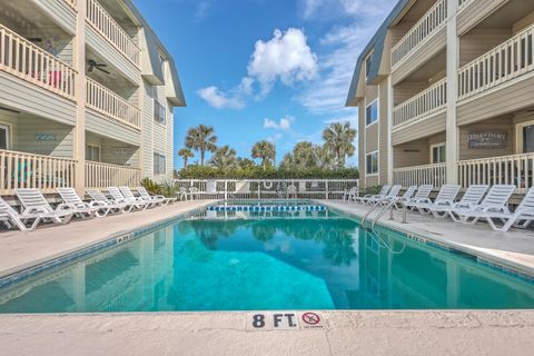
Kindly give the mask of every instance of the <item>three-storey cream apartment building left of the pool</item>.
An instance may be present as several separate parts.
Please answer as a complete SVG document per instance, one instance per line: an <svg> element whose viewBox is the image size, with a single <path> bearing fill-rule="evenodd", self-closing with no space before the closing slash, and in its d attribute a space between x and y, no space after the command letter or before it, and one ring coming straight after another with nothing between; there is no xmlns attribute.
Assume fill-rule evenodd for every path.
<svg viewBox="0 0 534 356"><path fill-rule="evenodd" d="M0 195L171 178L184 106L131 0L0 0Z"/></svg>

